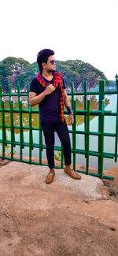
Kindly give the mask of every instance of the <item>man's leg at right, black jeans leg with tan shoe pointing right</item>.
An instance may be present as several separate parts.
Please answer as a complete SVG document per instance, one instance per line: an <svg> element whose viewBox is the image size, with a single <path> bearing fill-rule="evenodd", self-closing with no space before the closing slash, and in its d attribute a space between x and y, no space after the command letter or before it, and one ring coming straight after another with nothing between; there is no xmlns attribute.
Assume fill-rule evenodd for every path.
<svg viewBox="0 0 118 256"><path fill-rule="evenodd" d="M61 121L57 123L56 127L57 135L61 140L61 144L63 145L64 157L65 157L65 173L72 176L73 179L80 180L81 176L79 176L75 171L73 171L70 167L71 165L71 143L70 137L68 133L68 127L66 122L62 123Z"/></svg>

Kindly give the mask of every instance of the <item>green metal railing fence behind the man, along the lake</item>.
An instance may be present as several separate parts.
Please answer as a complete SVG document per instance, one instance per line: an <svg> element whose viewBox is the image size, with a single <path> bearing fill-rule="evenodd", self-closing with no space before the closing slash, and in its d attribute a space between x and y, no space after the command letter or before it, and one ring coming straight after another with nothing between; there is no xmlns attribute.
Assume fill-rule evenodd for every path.
<svg viewBox="0 0 118 256"><path fill-rule="evenodd" d="M32 127L31 125L31 115L32 113L36 113L39 118L39 109L31 109L28 103L28 109L23 109L22 107L22 96L29 96L29 83L27 84L27 93L20 92L20 84L17 84L17 93L11 93L10 84L9 93L2 92L2 85L0 84L0 99L1 99L1 109L0 113L2 114L2 124L0 124L0 129L2 129L2 138L0 138L0 143L2 144L2 155L0 158L9 159L11 161L22 161L29 164L35 165L46 165L42 163L42 150L46 149L46 146L42 143L42 127L39 122L39 128ZM116 94L116 112L112 113L112 111L105 111L105 95L114 95ZM104 158L111 158L117 162L118 158L118 76L116 75L116 91L105 91L105 80L101 80L99 83L99 92L97 91L87 91L87 80L84 80L84 91L75 92L74 91L74 83L72 81L72 91L68 93L68 95L72 96L72 109L74 113L75 122L72 125L72 130L69 130L69 133L72 133L72 154L73 154L73 169L78 173L86 173L92 176L98 176L101 179L113 179L112 176L103 175L103 162ZM76 109L76 95L84 96L84 109L77 110ZM98 110L90 110L90 100L87 100L88 95L99 95L99 108ZM9 109L5 109L4 107L4 97L9 96ZM18 96L18 109L13 109L13 96ZM10 125L6 125L5 121L5 113L10 113ZM13 124L13 113L19 113L19 121L20 125ZM23 114L28 113L29 118L29 126L26 127L23 125ZM65 114L68 115L67 110L65 110ZM84 131L76 130L76 117L84 116ZM90 116L98 116L98 132L90 132ZM116 117L116 132L115 133L106 133L104 132L104 123L105 116ZM6 139L6 129L10 129L10 139ZM20 141L15 140L14 129L20 130ZM24 132L23 130L29 131L29 143L24 142ZM33 131L39 131L39 142L33 143ZM76 149L76 135L84 135L85 138L85 150ZM98 151L90 150L90 135L98 136ZM114 153L105 153L104 152L104 137L109 136L115 138L115 149ZM6 145L9 144L11 146L10 157L6 156L5 150ZM15 158L13 154L13 148L16 145L20 146L20 159ZM23 158L23 149L24 147L29 148L29 161L24 160ZM34 148L39 148L39 162L32 161L32 150ZM54 150L61 151L61 166L55 166L57 169L63 169L63 149L61 147L54 147ZM86 158L86 171L81 171L76 169L76 155L83 154ZM89 172L89 160L90 156L98 157L98 173L90 173Z"/></svg>

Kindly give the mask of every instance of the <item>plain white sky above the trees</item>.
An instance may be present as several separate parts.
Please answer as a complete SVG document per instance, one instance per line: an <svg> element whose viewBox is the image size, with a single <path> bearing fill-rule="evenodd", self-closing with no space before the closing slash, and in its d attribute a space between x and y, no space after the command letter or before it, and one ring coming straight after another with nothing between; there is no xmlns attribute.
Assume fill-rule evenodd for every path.
<svg viewBox="0 0 118 256"><path fill-rule="evenodd" d="M59 61L79 59L115 80L118 0L0 0L0 61L36 61L50 48Z"/></svg>

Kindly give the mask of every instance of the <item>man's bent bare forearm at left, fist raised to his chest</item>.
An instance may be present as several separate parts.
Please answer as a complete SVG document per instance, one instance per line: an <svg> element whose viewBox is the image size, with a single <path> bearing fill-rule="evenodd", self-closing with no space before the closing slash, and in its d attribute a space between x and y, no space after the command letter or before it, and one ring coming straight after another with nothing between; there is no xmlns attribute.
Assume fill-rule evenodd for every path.
<svg viewBox="0 0 118 256"><path fill-rule="evenodd" d="M45 91L42 91L41 94L37 95L35 92L30 91L29 93L29 104L31 106L35 106L42 102L42 100L46 97L46 95L50 95L55 90L52 84L46 87Z"/></svg>

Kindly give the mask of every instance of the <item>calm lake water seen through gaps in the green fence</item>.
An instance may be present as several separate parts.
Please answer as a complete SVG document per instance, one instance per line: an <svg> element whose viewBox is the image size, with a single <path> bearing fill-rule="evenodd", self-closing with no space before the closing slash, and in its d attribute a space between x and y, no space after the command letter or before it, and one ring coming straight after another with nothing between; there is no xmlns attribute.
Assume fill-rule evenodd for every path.
<svg viewBox="0 0 118 256"><path fill-rule="evenodd" d="M27 99L23 98L23 109L28 109ZM76 106L78 110L84 109L84 98L83 96L76 96ZM9 109L9 101L5 101L5 108ZM13 100L13 109L18 109L17 100ZM32 109L38 109L38 106L32 107ZM90 109L97 110L98 109L98 96L90 96ZM112 112L116 112L116 95L105 95L105 110L112 110ZM38 114L32 114L32 126L39 127L39 116ZM6 124L10 125L10 115L6 113L5 115ZM2 116L0 115L0 123L2 121ZM66 119L68 124L68 117ZM13 113L13 123L14 125L19 125L19 113ZM28 113L23 113L23 125L28 127ZM72 129L71 126L68 126L69 130ZM84 116L76 116L76 130L84 131ZM90 116L90 132L98 132L98 117ZM105 117L105 130L104 132L116 132L116 117ZM6 129L7 138L10 139L10 129ZM43 138L43 136L42 136ZM72 134L70 134L70 138L72 141ZM2 139L2 129L0 130L0 139ZM15 129L15 140L20 141L20 131L19 129ZM39 132L33 132L33 143L37 143L39 141ZM28 130L24 130L24 142L29 142L29 132ZM44 138L42 139L43 144L45 144ZM60 146L60 140L55 134L55 146ZM76 148L77 149L85 149L84 145L84 135L76 135ZM2 146L1 146L2 150ZM14 147L16 151L16 155L20 154L20 147ZM98 151L98 136L90 135L90 150ZM10 152L10 146L7 149L7 152ZM114 153L115 152L115 138L106 137L104 139L104 152ZM57 154L57 152L55 152ZM24 147L23 155L29 155L28 147ZM32 158L39 158L39 149L34 148L32 150ZM42 150L42 158L46 158L46 150ZM76 164L85 165L86 158L83 154L76 154ZM114 159L104 158L104 169L110 169L112 166L118 166L118 163L114 162ZM90 167L98 169L98 158L90 156Z"/></svg>

